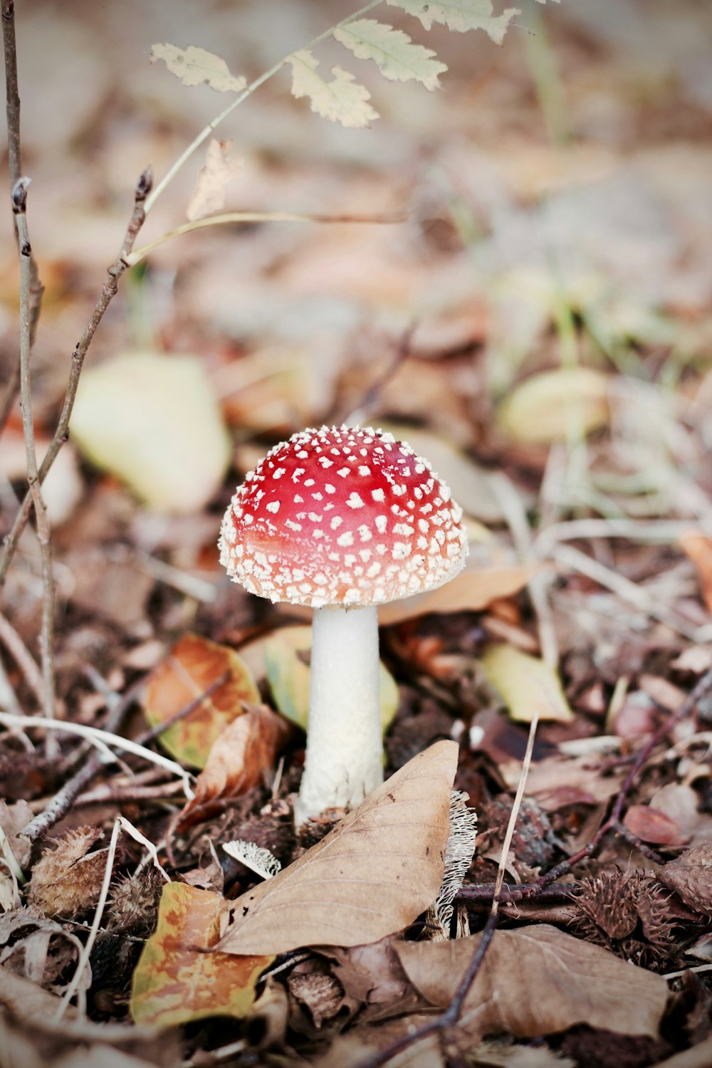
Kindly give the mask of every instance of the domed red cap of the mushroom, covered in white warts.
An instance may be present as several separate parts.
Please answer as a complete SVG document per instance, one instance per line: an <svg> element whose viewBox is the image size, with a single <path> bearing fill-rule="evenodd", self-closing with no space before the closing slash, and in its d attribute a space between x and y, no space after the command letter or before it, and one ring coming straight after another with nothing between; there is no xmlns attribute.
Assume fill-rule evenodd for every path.
<svg viewBox="0 0 712 1068"><path fill-rule="evenodd" d="M250 593L322 608L432 590L468 554L462 511L410 445L370 427L302 430L250 471L220 560Z"/></svg>

